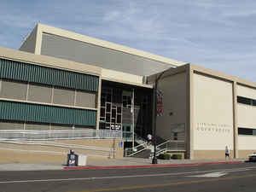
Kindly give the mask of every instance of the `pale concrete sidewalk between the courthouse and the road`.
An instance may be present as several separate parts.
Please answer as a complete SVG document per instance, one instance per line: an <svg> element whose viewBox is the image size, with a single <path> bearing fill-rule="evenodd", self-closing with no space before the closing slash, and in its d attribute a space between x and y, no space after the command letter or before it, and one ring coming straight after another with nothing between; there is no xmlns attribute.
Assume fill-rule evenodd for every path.
<svg viewBox="0 0 256 192"><path fill-rule="evenodd" d="M211 164L235 164L242 163L243 159L231 160L158 160L157 165L152 164L152 160L143 158L125 157L116 159L89 159L87 166L67 167L56 163L12 163L0 164L0 171L42 171L42 170L78 170L78 169L111 169L111 168L150 168L168 166L202 166Z"/></svg>

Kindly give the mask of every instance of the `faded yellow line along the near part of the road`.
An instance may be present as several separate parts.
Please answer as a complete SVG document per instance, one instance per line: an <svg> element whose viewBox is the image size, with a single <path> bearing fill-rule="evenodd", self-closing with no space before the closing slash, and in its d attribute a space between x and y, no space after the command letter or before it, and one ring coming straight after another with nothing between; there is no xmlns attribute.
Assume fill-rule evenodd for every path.
<svg viewBox="0 0 256 192"><path fill-rule="evenodd" d="M210 183L216 181L227 181L227 180L234 180L238 178L247 178L247 177L256 177L256 174L247 175L247 176L236 176L236 177L222 177L222 178L208 178L208 179L201 179L201 180L194 180L194 181L187 181L187 182L177 182L177 183L163 183L163 184L148 184L148 185L138 185L132 187L117 187L117 188L108 188L108 189L92 189L92 190L83 190L79 192L106 192L106 191L119 191L119 190L132 190L132 189L145 189L145 188L161 188L161 187L168 187L172 185L184 185L184 184L193 184L193 183Z"/></svg>

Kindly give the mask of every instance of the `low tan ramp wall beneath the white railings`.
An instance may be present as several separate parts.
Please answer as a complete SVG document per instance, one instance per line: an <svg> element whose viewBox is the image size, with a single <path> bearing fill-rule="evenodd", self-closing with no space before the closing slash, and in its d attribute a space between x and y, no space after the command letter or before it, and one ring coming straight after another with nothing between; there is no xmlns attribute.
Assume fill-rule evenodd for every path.
<svg viewBox="0 0 256 192"><path fill-rule="evenodd" d="M94 139L94 140L58 140L50 143L70 143L82 146L93 146L98 148L115 148L117 150L116 159L123 158L124 148L119 148L120 139ZM123 145L124 146L124 145ZM0 143L0 163L47 163L55 162L59 164L67 163L67 153L71 148L19 145ZM109 152L93 151L87 149L74 149L77 154L85 154L89 159L108 158ZM103 157L103 156L105 157Z"/></svg>

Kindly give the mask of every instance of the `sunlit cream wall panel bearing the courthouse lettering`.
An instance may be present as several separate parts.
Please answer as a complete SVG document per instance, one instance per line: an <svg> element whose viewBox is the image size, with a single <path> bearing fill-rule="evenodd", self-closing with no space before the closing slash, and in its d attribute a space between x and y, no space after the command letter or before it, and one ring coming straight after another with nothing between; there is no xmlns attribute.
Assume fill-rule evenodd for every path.
<svg viewBox="0 0 256 192"><path fill-rule="evenodd" d="M210 153L224 150L226 145L233 149L232 83L197 73L193 75L194 150Z"/></svg>

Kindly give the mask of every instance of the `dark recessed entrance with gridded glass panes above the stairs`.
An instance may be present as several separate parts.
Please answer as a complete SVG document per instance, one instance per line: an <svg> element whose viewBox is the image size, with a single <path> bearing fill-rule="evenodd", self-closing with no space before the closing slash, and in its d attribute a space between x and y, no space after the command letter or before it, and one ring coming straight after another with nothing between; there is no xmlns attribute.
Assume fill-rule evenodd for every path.
<svg viewBox="0 0 256 192"><path fill-rule="evenodd" d="M132 132L131 98L134 90L134 124L138 136L152 133L153 90L102 80L100 129Z"/></svg>

